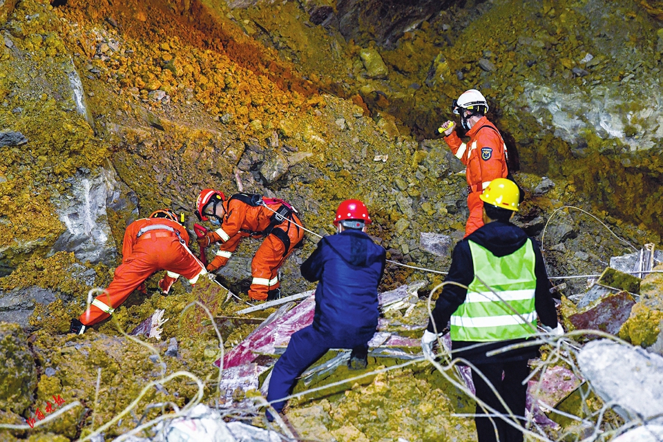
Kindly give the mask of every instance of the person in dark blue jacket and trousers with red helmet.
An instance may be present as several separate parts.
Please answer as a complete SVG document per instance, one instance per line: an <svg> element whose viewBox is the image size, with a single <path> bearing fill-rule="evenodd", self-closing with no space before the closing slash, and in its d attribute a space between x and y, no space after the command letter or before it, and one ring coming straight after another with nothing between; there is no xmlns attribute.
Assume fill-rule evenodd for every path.
<svg viewBox="0 0 663 442"><path fill-rule="evenodd" d="M367 366L368 341L378 326L378 285L385 271L385 249L365 233L371 223L359 200L345 200L336 210L338 233L325 236L302 264L302 276L316 287L313 323L290 338L274 365L267 401L281 412L295 380L329 349L352 349L348 367ZM273 402L276 401L276 402ZM267 419L273 416L267 411Z"/></svg>

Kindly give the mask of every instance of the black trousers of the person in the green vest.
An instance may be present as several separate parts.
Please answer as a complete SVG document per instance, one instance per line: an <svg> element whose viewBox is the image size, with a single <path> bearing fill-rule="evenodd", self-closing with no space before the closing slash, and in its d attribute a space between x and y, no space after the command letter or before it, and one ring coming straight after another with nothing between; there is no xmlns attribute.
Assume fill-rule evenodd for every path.
<svg viewBox="0 0 663 442"><path fill-rule="evenodd" d="M522 385L522 382L530 374L527 360L481 364L477 365L477 369L481 370L483 376L486 376L490 383L492 383L495 390L497 390L503 401L508 405L512 414L520 418L518 419L520 425L525 425L523 416L525 415L527 384ZM472 380L474 381L474 387L477 389L477 397L500 414L505 414L506 419L512 420L503 405L499 402L497 396L495 396L488 384L483 381L483 378L474 372L474 369L472 369ZM486 414L486 410L483 410L478 403L477 414ZM521 430L512 427L512 425L499 417L493 417L491 422L491 419L488 417L477 416L474 418L474 423L477 424L479 442L523 441ZM496 427L497 434L495 432Z"/></svg>

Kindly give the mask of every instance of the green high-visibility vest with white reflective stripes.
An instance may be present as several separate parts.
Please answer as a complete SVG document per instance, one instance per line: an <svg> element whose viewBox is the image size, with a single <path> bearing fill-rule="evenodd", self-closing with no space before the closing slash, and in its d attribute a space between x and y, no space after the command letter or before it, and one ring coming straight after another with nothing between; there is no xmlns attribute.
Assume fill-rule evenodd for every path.
<svg viewBox="0 0 663 442"><path fill-rule="evenodd" d="M532 240L501 257L476 242L468 242L474 279L465 302L451 316L451 339L492 342L534 335L537 277Z"/></svg>

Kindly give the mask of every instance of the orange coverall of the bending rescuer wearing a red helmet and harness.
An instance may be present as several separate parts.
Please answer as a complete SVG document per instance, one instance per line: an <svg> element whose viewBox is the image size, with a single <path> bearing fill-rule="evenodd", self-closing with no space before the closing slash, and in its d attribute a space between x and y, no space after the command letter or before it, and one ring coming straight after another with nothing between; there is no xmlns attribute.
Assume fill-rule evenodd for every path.
<svg viewBox="0 0 663 442"><path fill-rule="evenodd" d="M282 203L269 204L269 209L278 211ZM233 256L242 238L248 236L262 236L262 231L269 227L273 211L265 206L252 206L246 202L229 198L223 202L225 214L221 227L215 230L221 242L219 251L214 259L207 265L207 270L214 271L227 264ZM265 236L256 255L251 261L251 287L249 287L249 298L266 300L267 292L280 287L278 280L278 269L283 265L285 259L292 253L293 249L300 245L304 239L302 222L295 213L291 219L286 219L277 224L273 231ZM280 230L280 232L277 232ZM287 238L282 240L279 238Z"/></svg>

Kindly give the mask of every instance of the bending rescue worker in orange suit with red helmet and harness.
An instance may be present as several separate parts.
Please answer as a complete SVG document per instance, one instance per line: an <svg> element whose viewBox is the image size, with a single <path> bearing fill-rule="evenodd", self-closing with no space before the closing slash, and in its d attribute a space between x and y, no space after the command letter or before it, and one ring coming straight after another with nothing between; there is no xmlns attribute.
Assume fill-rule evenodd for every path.
<svg viewBox="0 0 663 442"><path fill-rule="evenodd" d="M213 189L204 189L195 202L201 221L218 227L198 238L201 247L220 242L219 251L207 265L215 271L227 264L242 238L265 238L251 261L249 298L274 300L281 296L278 269L304 241L302 222L296 210L278 198L255 193L236 193L230 198Z"/></svg>

